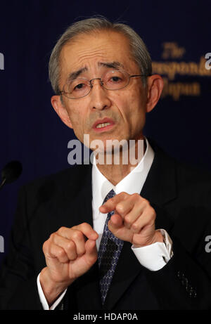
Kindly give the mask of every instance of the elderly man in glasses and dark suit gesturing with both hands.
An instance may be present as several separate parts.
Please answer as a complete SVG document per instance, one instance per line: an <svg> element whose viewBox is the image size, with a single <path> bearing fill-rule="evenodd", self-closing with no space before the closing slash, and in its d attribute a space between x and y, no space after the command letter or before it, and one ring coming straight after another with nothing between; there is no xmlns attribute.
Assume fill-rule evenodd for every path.
<svg viewBox="0 0 211 324"><path fill-rule="evenodd" d="M3 309L209 309L210 178L143 136L162 78L132 28L71 25L49 63L51 98L79 141L111 163L76 165L25 186L2 267ZM134 141L136 164L108 141ZM139 155L139 141L143 154ZM128 151L129 154L129 151Z"/></svg>

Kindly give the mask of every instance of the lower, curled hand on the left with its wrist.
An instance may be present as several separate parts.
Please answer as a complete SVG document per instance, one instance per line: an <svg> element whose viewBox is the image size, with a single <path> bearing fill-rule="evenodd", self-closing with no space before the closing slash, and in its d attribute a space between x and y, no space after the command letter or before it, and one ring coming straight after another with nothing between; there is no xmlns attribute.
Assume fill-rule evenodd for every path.
<svg viewBox="0 0 211 324"><path fill-rule="evenodd" d="M61 227L44 242L46 268L39 280L50 306L96 262L97 238L98 233L88 223L82 223L72 228Z"/></svg>

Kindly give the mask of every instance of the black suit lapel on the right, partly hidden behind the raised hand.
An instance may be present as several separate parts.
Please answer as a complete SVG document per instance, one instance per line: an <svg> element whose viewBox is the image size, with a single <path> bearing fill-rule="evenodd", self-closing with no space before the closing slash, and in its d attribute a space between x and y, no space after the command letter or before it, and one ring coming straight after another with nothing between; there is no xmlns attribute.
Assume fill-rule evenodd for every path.
<svg viewBox="0 0 211 324"><path fill-rule="evenodd" d="M176 197L175 165L155 145L151 143L151 146L155 151L155 158L141 190L141 196L151 202L151 205L155 208L157 214L156 228L165 228L169 231L172 227L172 220L163 212L162 206ZM143 267L131 250L131 243L124 242L104 309L113 309L118 299L142 269Z"/></svg>

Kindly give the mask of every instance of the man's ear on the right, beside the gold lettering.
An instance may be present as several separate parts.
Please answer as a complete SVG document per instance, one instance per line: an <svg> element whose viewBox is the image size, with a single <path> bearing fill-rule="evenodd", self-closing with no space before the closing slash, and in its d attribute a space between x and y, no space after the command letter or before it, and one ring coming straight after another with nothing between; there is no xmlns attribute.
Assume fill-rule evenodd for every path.
<svg viewBox="0 0 211 324"><path fill-rule="evenodd" d="M146 112L153 110L155 105L160 99L163 88L163 80L159 74L153 74L148 77L148 91L147 91L147 103Z"/></svg>

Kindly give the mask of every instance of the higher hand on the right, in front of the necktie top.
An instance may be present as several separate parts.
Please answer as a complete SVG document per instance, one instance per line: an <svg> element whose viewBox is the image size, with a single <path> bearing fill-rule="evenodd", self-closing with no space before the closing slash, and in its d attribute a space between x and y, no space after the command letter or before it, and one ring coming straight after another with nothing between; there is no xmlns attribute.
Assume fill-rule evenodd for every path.
<svg viewBox="0 0 211 324"><path fill-rule="evenodd" d="M160 231L155 231L155 209L138 193L119 193L99 208L103 214L115 211L108 221L109 230L120 240L143 247L163 242Z"/></svg>

